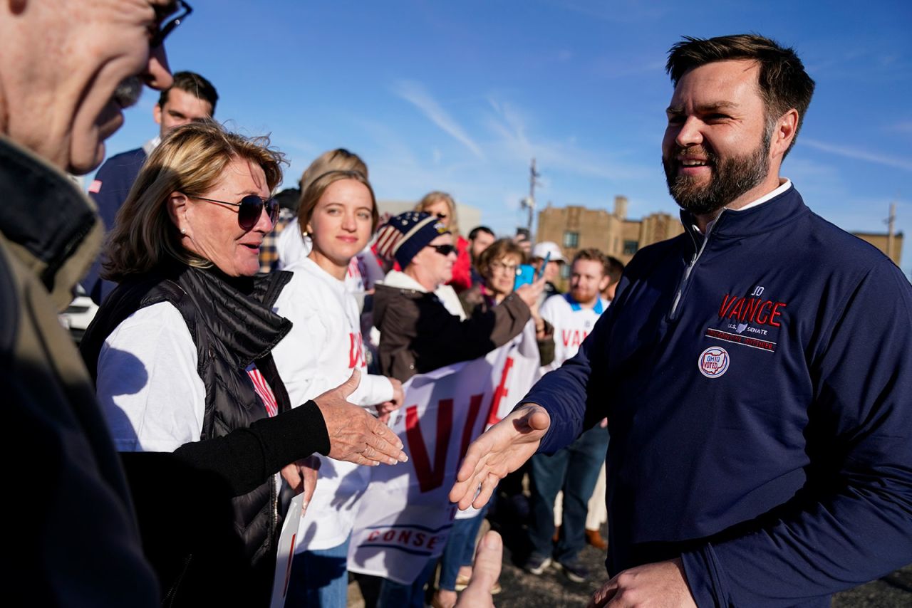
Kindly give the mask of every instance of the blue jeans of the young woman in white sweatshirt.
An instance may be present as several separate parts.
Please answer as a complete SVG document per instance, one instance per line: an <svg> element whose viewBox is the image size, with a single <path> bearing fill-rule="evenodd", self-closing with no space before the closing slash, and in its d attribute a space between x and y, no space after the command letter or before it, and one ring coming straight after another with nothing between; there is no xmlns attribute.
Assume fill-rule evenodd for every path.
<svg viewBox="0 0 912 608"><path fill-rule="evenodd" d="M288 582L287 608L346 608L348 603L348 542L330 549L295 554Z"/></svg>

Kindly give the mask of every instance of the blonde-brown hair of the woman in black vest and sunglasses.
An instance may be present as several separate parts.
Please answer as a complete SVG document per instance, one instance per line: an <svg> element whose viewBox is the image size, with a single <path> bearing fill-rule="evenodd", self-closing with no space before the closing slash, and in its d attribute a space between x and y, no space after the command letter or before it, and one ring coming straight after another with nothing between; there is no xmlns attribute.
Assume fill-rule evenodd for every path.
<svg viewBox="0 0 912 608"><path fill-rule="evenodd" d="M202 196L222 177L234 159L263 168L269 191L282 181L282 153L269 147L269 138L245 138L224 130L212 120L174 129L142 166L109 235L104 278L120 281L146 273L169 260L190 266L211 266L208 260L181 245L181 235L168 214L171 193Z"/></svg>

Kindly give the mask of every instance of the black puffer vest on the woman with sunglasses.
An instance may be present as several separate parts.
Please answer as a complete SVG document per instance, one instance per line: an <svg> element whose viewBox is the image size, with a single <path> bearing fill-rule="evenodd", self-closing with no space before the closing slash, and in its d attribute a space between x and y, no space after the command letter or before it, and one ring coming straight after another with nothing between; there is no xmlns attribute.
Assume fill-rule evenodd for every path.
<svg viewBox="0 0 912 608"><path fill-rule="evenodd" d="M271 351L291 322L271 309L290 278L291 273L229 278L217 270L172 266L126 280L109 295L83 337L80 350L89 373L97 379L101 346L124 319L140 308L169 302L181 312L197 349L197 372L206 389L201 440L223 437L267 417L245 371L251 363L272 388L278 411L284 412L290 403ZM266 584L266 579L271 583L275 567L275 546L287 509L280 487L273 476L232 500L234 531L243 541L256 586ZM162 592L168 593L169 583L162 584Z"/></svg>

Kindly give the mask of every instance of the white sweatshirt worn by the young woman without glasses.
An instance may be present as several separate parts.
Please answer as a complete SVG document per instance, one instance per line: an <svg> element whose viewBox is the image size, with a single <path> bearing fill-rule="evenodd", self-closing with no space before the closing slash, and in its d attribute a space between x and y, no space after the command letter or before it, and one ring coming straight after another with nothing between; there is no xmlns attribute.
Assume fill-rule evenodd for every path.
<svg viewBox="0 0 912 608"><path fill-rule="evenodd" d="M273 308L292 322L291 331L273 349L275 366L293 406L318 397L361 371L361 384L348 401L371 407L389 401L393 387L386 376L368 375L358 304L344 281L309 258L287 266L294 273ZM301 519L298 551L342 544L354 526L356 503L368 486L368 467L320 457L314 498Z"/></svg>

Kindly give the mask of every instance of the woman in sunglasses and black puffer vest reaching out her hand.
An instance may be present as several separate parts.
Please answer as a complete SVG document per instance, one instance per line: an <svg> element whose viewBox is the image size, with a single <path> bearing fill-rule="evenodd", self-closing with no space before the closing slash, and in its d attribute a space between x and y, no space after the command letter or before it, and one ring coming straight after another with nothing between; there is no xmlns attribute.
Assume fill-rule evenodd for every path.
<svg viewBox="0 0 912 608"><path fill-rule="evenodd" d="M119 285L80 345L166 605L266 605L287 499L313 491L302 460L404 458L346 402L357 372L295 402L276 370L291 323L271 307L291 275L254 274L281 161L213 122L171 131L119 211L105 264Z"/></svg>

